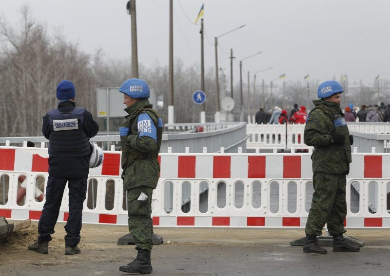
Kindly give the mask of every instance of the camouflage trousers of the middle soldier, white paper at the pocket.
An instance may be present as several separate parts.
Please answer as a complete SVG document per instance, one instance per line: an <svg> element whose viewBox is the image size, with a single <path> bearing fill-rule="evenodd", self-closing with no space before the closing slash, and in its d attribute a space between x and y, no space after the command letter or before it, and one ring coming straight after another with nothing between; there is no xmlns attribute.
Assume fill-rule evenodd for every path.
<svg viewBox="0 0 390 276"><path fill-rule="evenodd" d="M127 201L129 204L129 232L133 235L136 249L152 251L153 247L153 221L152 213L152 192L153 188L140 186L128 190ZM141 193L148 198L144 201L138 200Z"/></svg>

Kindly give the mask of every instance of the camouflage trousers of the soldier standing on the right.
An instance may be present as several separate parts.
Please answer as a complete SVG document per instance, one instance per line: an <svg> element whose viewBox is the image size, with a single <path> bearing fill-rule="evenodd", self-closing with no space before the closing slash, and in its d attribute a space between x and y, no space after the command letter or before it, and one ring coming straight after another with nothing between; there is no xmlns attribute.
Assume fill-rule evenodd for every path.
<svg viewBox="0 0 390 276"><path fill-rule="evenodd" d="M314 193L306 222L307 235L321 235L325 223L331 236L346 232L346 185L345 174L313 174Z"/></svg>

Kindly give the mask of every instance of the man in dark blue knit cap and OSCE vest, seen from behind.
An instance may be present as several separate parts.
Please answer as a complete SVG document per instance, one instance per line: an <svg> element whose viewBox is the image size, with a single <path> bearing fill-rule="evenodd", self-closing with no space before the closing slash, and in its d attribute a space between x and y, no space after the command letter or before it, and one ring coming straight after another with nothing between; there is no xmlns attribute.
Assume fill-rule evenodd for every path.
<svg viewBox="0 0 390 276"><path fill-rule="evenodd" d="M52 240L65 185L69 188L69 216L64 226L65 254L80 253L82 205L87 191L91 144L99 125L92 114L76 107L76 90L72 82L63 80L57 86L58 108L43 116L42 133L49 140L49 177L45 204L38 224L38 240L28 249L47 254Z"/></svg>

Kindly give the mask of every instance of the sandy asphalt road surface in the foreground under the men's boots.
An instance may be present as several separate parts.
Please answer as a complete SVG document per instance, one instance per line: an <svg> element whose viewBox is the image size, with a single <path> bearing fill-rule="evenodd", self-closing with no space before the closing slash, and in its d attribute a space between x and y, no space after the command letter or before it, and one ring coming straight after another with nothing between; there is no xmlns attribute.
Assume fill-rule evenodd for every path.
<svg viewBox="0 0 390 276"><path fill-rule="evenodd" d="M132 275L120 272L130 262L134 245L117 245L123 226L83 225L81 254L64 255L63 224L56 226L49 254L27 250L37 228L21 230L0 243L0 275L73 276ZM365 242L360 252L308 254L290 242L302 229L155 228L164 243L152 251L156 276L390 276L390 230L349 230Z"/></svg>

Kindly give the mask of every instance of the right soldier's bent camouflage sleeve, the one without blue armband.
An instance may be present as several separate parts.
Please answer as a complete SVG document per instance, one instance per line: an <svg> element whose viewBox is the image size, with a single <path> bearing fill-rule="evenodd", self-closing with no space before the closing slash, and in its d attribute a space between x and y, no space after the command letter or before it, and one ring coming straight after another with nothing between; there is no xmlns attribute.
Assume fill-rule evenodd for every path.
<svg viewBox="0 0 390 276"><path fill-rule="evenodd" d="M333 123L333 122L331 122ZM329 118L320 110L314 111L308 117L303 135L304 143L308 146L326 146L331 144Z"/></svg>

